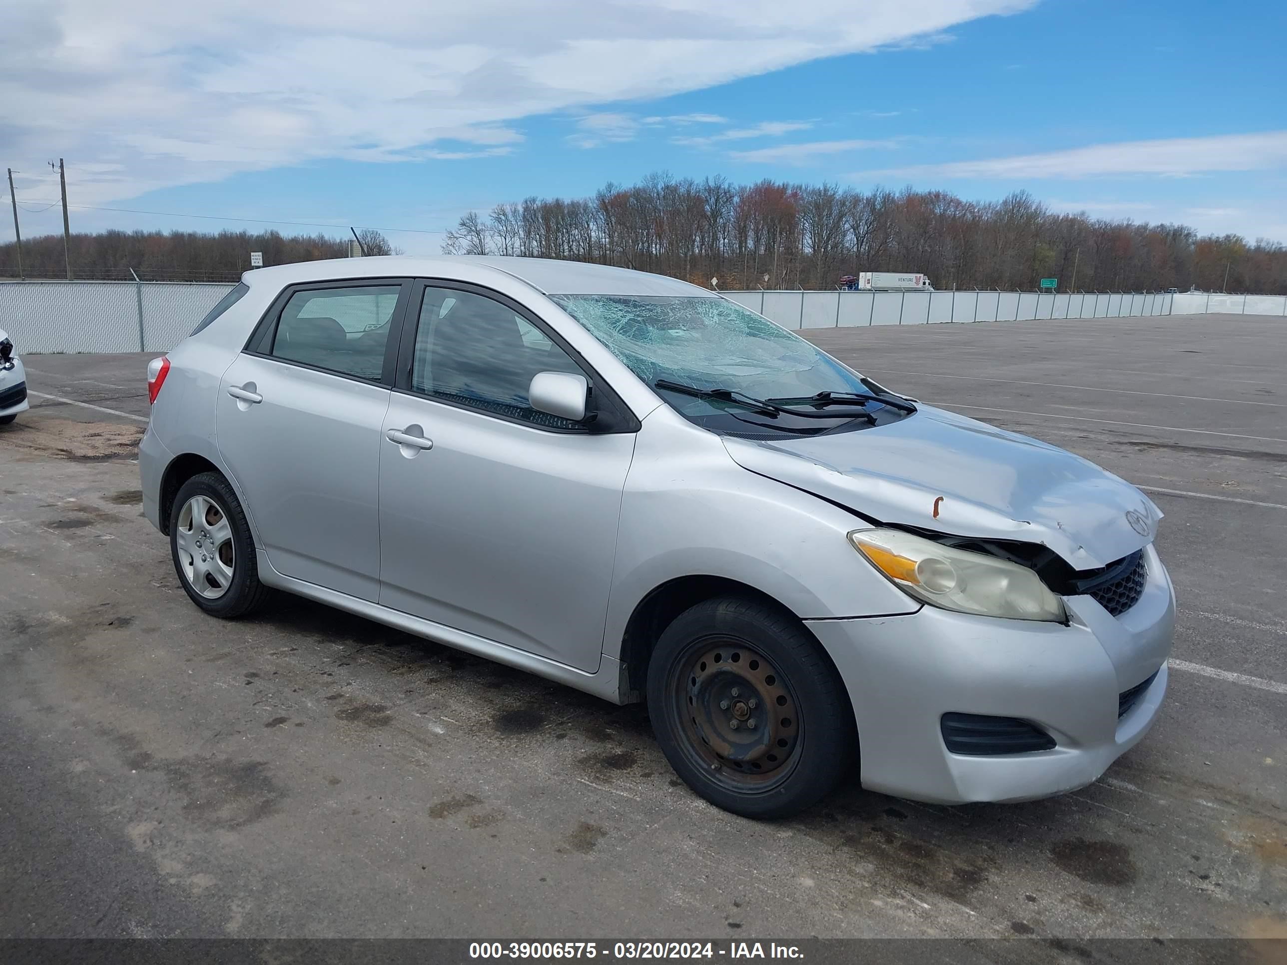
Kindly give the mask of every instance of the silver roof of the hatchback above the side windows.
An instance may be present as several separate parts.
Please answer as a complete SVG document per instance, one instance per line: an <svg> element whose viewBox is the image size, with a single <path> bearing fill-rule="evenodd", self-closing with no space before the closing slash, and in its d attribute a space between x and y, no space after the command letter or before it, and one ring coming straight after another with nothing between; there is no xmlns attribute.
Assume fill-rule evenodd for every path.
<svg viewBox="0 0 1287 965"><path fill-rule="evenodd" d="M341 278L378 278L412 275L422 278L450 278L462 262L476 268L505 273L546 295L680 295L689 297L718 297L714 292L678 278L634 271L628 268L593 265L586 261L557 259L525 259L503 255L386 255L358 259L327 259L274 265L247 271L242 279L247 284L260 280L277 284L323 282ZM472 273L471 273L472 274Z"/></svg>

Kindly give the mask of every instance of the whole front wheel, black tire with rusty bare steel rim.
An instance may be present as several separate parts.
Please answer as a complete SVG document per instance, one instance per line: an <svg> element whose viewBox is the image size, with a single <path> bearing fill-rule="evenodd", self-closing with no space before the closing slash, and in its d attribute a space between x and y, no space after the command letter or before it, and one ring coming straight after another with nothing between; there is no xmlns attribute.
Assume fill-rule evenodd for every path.
<svg viewBox="0 0 1287 965"><path fill-rule="evenodd" d="M799 620L755 600L707 600L676 618L649 663L647 703L676 773L744 817L803 811L856 757L835 668Z"/></svg>

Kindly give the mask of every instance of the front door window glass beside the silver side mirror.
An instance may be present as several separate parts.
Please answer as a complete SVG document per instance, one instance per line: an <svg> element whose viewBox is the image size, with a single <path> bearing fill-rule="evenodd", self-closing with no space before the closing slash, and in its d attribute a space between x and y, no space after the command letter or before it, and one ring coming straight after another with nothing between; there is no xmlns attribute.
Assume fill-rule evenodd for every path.
<svg viewBox="0 0 1287 965"><path fill-rule="evenodd" d="M539 372L583 374L544 332L499 301L454 288L425 290L414 391L547 428L577 428L529 404L528 387Z"/></svg>

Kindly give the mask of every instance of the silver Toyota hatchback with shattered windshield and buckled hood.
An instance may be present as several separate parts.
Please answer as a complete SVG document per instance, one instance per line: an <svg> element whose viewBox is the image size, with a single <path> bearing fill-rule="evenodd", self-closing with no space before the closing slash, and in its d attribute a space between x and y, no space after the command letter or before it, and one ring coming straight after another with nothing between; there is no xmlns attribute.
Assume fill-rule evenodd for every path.
<svg viewBox="0 0 1287 965"><path fill-rule="evenodd" d="M716 292L571 261L247 273L148 369L144 510L269 589L624 704L750 817L1094 781L1166 691L1161 512Z"/></svg>

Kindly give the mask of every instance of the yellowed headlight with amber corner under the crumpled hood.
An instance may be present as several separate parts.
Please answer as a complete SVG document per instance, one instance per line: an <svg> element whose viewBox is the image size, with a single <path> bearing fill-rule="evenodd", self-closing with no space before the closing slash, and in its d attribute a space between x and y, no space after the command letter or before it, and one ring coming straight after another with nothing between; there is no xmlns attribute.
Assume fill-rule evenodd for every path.
<svg viewBox="0 0 1287 965"><path fill-rule="evenodd" d="M1063 601L1026 566L897 529L860 529L853 548L898 589L931 606L1012 620L1066 623Z"/></svg>

